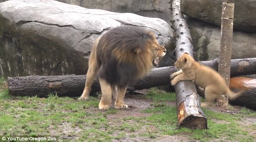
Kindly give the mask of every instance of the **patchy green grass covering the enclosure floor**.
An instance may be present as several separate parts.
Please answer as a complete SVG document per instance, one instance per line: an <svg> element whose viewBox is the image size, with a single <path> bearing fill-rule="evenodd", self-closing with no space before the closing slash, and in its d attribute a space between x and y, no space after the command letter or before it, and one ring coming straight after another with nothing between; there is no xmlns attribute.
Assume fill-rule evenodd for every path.
<svg viewBox="0 0 256 142"><path fill-rule="evenodd" d="M12 97L3 81L0 78L0 136L56 136L63 142L140 141L141 138L156 141L162 135L202 142L254 142L255 139L249 134L250 130L255 131L255 124L240 123L243 118L256 118L256 113L247 108L241 108L241 113L235 115L203 109L208 130L177 129L176 107L166 103L175 101L174 93L151 89L141 96L142 100L152 100L150 107L136 112L138 115L122 116L133 110L98 110L101 94L90 96L86 102L58 97L57 93L50 93L47 98ZM119 114L120 117L113 117Z"/></svg>

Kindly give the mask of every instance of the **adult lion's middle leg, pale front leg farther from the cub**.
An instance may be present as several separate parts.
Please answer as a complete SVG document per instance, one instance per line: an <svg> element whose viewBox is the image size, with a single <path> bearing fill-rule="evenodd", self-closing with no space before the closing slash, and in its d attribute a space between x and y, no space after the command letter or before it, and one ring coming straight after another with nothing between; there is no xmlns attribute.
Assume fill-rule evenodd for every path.
<svg viewBox="0 0 256 142"><path fill-rule="evenodd" d="M108 110L112 102L112 87L105 79L99 78L99 81L102 93L99 109Z"/></svg>

